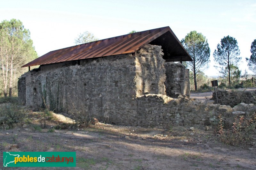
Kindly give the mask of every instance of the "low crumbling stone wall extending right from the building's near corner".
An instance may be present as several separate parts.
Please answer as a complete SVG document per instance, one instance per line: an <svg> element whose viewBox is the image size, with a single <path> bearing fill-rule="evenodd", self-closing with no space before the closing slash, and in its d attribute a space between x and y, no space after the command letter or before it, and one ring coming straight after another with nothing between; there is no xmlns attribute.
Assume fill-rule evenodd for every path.
<svg viewBox="0 0 256 170"><path fill-rule="evenodd" d="M178 99L173 99L166 95L148 94L136 100L138 125L161 129L169 129L173 124L185 127L216 124L218 115L233 121L236 116L233 112L243 111L246 115L252 115L256 109L254 104L241 103L232 108L208 101L192 100L181 95Z"/></svg>

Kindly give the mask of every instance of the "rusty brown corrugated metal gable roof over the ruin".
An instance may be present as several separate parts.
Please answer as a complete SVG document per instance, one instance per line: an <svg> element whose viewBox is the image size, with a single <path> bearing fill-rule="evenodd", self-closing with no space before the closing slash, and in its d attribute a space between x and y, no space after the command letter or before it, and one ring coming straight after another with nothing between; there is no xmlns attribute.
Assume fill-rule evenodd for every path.
<svg viewBox="0 0 256 170"><path fill-rule="evenodd" d="M192 61L169 26L50 51L22 67L134 53L146 44L161 45L166 61Z"/></svg>

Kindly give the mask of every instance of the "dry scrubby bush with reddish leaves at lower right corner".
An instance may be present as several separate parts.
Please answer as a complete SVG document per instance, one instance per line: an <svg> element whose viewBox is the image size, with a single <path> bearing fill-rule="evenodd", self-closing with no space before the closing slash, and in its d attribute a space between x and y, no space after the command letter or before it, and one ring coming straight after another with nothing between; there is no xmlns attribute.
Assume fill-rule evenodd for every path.
<svg viewBox="0 0 256 170"><path fill-rule="evenodd" d="M256 114L246 118L243 115L238 115L230 127L228 123L224 123L221 116L219 116L218 133L220 134L220 141L225 144L236 146L255 146L256 136Z"/></svg>

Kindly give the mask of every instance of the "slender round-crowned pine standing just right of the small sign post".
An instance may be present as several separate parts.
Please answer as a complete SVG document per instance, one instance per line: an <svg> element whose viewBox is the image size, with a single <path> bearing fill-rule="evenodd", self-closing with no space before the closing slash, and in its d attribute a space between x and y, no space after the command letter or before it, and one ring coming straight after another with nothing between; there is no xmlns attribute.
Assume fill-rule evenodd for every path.
<svg viewBox="0 0 256 170"><path fill-rule="evenodd" d="M225 70L226 67L228 68L229 86L231 85L231 66L237 66L240 62L241 57L238 57L239 55L240 50L237 45L237 41L229 35L221 39L220 44L217 45L217 50L215 49L213 53L214 61L220 65L220 72Z"/></svg>

